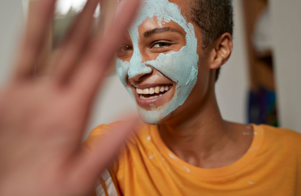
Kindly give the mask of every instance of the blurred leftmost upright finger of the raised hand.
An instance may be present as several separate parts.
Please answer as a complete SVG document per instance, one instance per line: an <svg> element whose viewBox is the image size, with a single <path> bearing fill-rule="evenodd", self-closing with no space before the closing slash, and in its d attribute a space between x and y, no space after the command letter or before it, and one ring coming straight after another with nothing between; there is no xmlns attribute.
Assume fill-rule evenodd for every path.
<svg viewBox="0 0 301 196"><path fill-rule="evenodd" d="M28 14L25 37L21 43L19 57L16 62L16 78L32 75L53 18L55 2L56 0L30 2L32 9Z"/></svg>

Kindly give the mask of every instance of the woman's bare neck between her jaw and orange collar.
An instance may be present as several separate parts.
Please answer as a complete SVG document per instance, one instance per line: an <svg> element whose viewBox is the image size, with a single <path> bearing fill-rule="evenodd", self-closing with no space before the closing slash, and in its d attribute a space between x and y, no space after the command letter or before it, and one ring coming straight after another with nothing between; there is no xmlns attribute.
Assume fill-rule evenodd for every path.
<svg viewBox="0 0 301 196"><path fill-rule="evenodd" d="M202 104L193 114L184 115L172 122L159 125L163 142L179 158L197 167L222 167L240 158L248 149L252 140L247 142L245 149L233 152L232 159L222 160L225 151L237 148L237 137L233 123L221 118L213 92L201 100ZM241 127L240 127L241 128ZM240 143L241 144L241 143Z"/></svg>

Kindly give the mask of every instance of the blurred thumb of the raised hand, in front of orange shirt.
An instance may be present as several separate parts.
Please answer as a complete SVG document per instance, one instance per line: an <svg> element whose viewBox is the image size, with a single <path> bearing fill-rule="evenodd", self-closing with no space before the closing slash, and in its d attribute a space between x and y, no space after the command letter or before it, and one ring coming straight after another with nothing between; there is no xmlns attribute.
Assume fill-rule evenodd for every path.
<svg viewBox="0 0 301 196"><path fill-rule="evenodd" d="M94 146L92 149L83 148L72 168L73 171L76 171L74 172L76 176L72 176L72 178L83 179L83 182L90 181L94 185L101 172L119 153L129 135L136 130L137 122L139 122L138 117L135 117L119 123L108 130L105 136L98 137L97 142L92 144ZM95 142L95 140L90 141Z"/></svg>

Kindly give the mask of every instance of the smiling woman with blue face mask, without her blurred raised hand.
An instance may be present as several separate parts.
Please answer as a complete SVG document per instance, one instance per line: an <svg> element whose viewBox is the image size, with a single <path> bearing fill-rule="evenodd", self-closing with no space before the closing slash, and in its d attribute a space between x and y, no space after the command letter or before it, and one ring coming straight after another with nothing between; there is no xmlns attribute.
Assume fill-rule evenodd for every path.
<svg viewBox="0 0 301 196"><path fill-rule="evenodd" d="M232 1L141 3L116 68L145 123L100 177L96 195L108 195L112 184L120 195L299 193L301 135L228 122L219 111L216 73L233 49ZM95 128L87 145L118 123Z"/></svg>

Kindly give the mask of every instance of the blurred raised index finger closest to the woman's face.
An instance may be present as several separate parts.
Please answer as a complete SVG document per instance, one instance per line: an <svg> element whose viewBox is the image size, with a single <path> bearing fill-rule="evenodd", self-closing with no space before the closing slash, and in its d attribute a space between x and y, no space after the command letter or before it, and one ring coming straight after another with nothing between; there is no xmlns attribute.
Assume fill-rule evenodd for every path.
<svg viewBox="0 0 301 196"><path fill-rule="evenodd" d="M87 56L81 62L76 74L73 89L80 91L84 97L91 100L95 94L105 71L108 69L112 57L115 55L122 35L135 17L139 7L139 0L123 0L122 8L104 36L96 37Z"/></svg>

